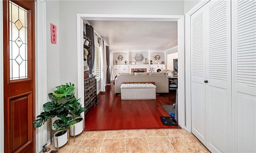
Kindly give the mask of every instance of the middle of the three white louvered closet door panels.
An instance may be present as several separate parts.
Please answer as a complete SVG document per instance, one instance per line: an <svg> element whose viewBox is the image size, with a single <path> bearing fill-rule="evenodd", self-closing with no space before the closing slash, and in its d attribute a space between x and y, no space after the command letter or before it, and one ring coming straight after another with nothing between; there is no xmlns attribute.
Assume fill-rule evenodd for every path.
<svg viewBox="0 0 256 153"><path fill-rule="evenodd" d="M231 129L231 3L206 4L206 147L229 152Z"/></svg>

